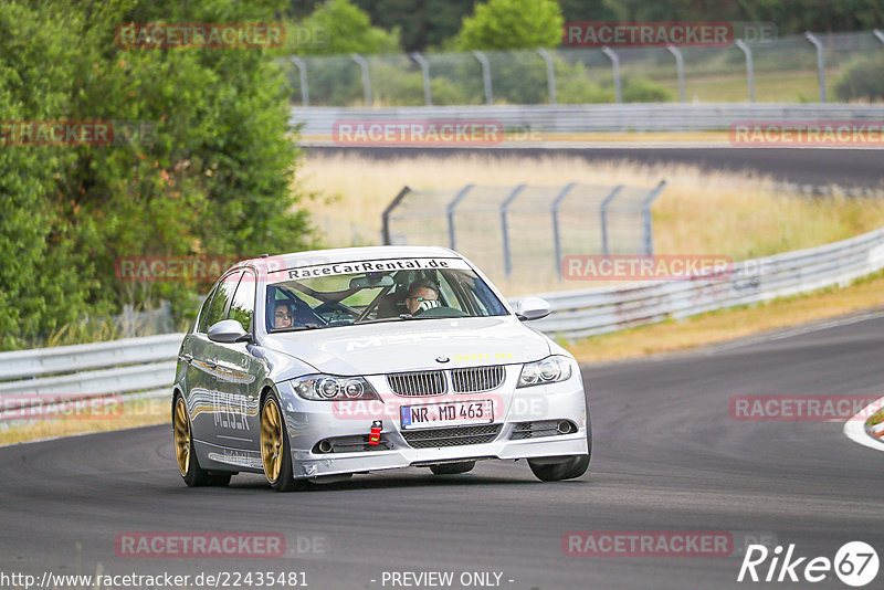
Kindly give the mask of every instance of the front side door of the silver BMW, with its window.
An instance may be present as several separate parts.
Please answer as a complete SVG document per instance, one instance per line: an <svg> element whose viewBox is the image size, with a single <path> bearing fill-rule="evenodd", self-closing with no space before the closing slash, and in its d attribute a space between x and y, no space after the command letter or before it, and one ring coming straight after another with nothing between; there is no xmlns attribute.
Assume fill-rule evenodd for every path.
<svg viewBox="0 0 884 590"><path fill-rule="evenodd" d="M254 334L256 276L245 271L231 299L227 319L234 319ZM259 400L264 365L251 343L215 344L217 408L214 429L221 444L257 451L261 442Z"/></svg>

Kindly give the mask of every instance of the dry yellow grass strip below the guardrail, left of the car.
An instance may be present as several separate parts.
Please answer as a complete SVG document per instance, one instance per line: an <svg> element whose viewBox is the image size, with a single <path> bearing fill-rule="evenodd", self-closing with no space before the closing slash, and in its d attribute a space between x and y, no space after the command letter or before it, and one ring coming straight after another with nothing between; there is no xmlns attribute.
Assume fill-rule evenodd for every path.
<svg viewBox="0 0 884 590"><path fill-rule="evenodd" d="M170 398L154 398L128 401L124 403L122 412L118 414L112 413L107 418L33 420L25 424L0 430L0 444L70 436L87 432L170 424ZM171 430L171 426L169 429ZM171 432L169 436L171 436Z"/></svg>

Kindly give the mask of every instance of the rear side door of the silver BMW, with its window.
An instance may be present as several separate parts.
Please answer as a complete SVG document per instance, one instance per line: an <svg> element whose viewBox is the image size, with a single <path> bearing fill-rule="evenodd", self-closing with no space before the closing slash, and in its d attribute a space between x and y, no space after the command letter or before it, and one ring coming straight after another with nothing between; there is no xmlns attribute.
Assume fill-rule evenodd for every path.
<svg viewBox="0 0 884 590"><path fill-rule="evenodd" d="M197 333L193 335L188 370L190 386L189 409L193 438L199 441L220 444L218 430L214 426L218 398L218 354L219 346L209 339L211 326L227 317L230 302L236 291L242 271L222 277L212 293L211 303L200 317ZM202 314L201 314L202 316Z"/></svg>

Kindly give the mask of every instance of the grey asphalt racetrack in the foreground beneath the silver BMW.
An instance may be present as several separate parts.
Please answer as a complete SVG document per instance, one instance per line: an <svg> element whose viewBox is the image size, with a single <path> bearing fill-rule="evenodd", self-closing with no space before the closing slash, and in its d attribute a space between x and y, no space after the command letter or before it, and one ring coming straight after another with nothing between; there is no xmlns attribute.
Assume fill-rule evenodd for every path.
<svg viewBox="0 0 884 590"><path fill-rule="evenodd" d="M882 334L884 318L872 318L585 367L593 454L571 482L484 462L464 475L410 468L306 493L274 493L255 475L187 488L166 425L2 447L2 571L305 572L318 590L440 588L393 586L390 572L450 571L454 583L442 588L717 589L768 586L736 581L744 541L762 535L808 558L832 559L851 540L884 557L884 455L851 442L840 421L736 421L728 411L733 396L881 396ZM734 555L568 556L572 530L729 531ZM115 541L130 531L281 533L286 556L118 557ZM501 577L462 584L465 572ZM812 586L848 588L832 573Z"/></svg>

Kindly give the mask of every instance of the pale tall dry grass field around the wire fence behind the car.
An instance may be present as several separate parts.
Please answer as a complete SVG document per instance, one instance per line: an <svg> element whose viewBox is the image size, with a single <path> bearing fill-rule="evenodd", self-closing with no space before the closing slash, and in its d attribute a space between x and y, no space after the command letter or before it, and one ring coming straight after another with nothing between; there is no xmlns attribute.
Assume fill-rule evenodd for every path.
<svg viewBox="0 0 884 590"><path fill-rule="evenodd" d="M301 186L319 197L303 204L330 246L380 243L381 213L404 186L456 188L583 182L667 187L654 203L654 252L714 254L734 260L810 247L884 225L884 199L808 198L785 192L768 178L708 173L693 166L588 164L551 156L499 159L483 155L371 160L351 155L306 158ZM356 238L356 239L354 239ZM466 252L470 255L469 252ZM555 278L495 282L508 296L594 286Z"/></svg>

